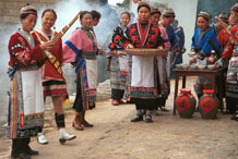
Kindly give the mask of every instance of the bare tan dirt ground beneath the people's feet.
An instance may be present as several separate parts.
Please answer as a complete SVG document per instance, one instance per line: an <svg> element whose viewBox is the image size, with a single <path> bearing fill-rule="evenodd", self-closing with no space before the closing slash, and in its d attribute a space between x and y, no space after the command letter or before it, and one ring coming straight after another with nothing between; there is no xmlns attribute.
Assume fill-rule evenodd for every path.
<svg viewBox="0 0 238 159"><path fill-rule="evenodd" d="M192 87L192 78L187 83ZM230 115L218 113L216 120L203 120L199 112L192 119L172 115L174 82L167 108L159 111L153 123L131 123L133 105L111 106L110 100L96 103L86 112L95 126L75 131L71 126L73 110L66 110L67 130L75 134L74 140L60 145L53 112L46 111L45 133L48 145L32 138L31 147L39 150L33 159L237 159L238 122ZM193 94L194 95L194 94ZM0 158L10 157L10 140L1 138Z"/></svg>

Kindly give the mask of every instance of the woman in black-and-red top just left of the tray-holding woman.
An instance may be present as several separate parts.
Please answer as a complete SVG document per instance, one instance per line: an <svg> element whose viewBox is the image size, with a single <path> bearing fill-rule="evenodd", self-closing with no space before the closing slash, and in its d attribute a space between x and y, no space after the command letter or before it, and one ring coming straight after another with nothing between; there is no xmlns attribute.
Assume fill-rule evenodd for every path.
<svg viewBox="0 0 238 159"><path fill-rule="evenodd" d="M118 53L126 52L121 46L121 39L126 33L127 26L130 22L130 13L123 12L120 15L120 25L114 29L111 42L109 44L110 51ZM110 60L110 87L111 87L111 103L118 106L124 103L121 99L124 95L126 82L128 76L127 57L108 57Z"/></svg>

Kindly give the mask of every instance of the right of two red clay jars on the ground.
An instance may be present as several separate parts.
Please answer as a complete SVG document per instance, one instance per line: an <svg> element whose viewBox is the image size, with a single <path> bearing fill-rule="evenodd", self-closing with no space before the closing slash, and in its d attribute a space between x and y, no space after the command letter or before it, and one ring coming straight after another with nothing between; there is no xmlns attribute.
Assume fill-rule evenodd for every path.
<svg viewBox="0 0 238 159"><path fill-rule="evenodd" d="M203 96L199 99L199 111L203 119L216 119L219 108L219 100L213 89L204 89Z"/></svg>

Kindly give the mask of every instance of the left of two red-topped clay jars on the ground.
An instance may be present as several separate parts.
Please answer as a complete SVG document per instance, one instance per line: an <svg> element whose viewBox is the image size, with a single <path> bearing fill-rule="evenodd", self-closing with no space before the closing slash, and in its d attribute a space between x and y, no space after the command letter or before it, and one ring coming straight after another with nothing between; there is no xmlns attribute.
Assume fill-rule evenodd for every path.
<svg viewBox="0 0 238 159"><path fill-rule="evenodd" d="M181 118L190 119L195 112L195 98L191 94L191 89L181 88L180 94L176 98L176 107Z"/></svg>

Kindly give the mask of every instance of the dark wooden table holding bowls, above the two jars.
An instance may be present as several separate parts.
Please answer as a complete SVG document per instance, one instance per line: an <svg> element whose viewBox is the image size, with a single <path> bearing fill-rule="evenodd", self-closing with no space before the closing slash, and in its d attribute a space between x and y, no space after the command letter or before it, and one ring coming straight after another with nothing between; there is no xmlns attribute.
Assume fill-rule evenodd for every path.
<svg viewBox="0 0 238 159"><path fill-rule="evenodd" d="M218 94L219 99L219 108L223 111L224 105L223 105L223 70L181 70L181 69L175 69L176 72L176 81L175 81L175 98L174 98L174 115L176 115L176 97L178 95L178 85L179 85L179 77L182 76L182 88L186 87L186 77L187 76L204 76L207 78L211 78L212 81L212 89ZM217 80L217 81L216 81ZM217 84L216 84L217 82Z"/></svg>

